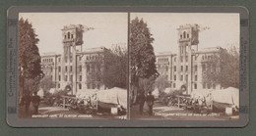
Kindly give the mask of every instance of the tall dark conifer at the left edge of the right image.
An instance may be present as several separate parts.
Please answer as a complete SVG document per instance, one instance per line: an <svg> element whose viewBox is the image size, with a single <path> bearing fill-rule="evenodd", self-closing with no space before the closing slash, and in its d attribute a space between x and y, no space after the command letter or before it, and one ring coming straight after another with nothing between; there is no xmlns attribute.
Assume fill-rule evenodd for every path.
<svg viewBox="0 0 256 136"><path fill-rule="evenodd" d="M130 23L130 71L131 71L131 92L132 98L136 101L139 80L155 77L158 74L156 68L156 56L153 48L154 38L147 23L138 18Z"/></svg>

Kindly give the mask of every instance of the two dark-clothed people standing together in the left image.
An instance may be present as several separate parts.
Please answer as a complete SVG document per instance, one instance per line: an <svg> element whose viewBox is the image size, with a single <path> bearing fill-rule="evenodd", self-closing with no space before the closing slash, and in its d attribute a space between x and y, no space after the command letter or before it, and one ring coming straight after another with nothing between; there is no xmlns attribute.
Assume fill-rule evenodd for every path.
<svg viewBox="0 0 256 136"><path fill-rule="evenodd" d="M37 95L37 92L33 92L32 96L29 93L27 93L22 98L22 105L25 106L25 113L29 113L31 103L32 103L32 107L33 107L33 114L38 114L40 97Z"/></svg>

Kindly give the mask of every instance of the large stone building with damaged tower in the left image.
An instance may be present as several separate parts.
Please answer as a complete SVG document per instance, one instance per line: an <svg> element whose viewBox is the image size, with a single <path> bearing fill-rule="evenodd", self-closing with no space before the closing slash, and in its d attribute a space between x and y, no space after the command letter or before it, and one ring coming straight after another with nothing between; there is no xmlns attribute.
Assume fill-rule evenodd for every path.
<svg viewBox="0 0 256 136"><path fill-rule="evenodd" d="M46 53L41 56L41 68L50 76L56 88L68 89L72 94L86 89L105 89L94 73L102 71L104 53L108 49L97 47L84 50L83 25L66 25L62 29L63 54Z"/></svg>

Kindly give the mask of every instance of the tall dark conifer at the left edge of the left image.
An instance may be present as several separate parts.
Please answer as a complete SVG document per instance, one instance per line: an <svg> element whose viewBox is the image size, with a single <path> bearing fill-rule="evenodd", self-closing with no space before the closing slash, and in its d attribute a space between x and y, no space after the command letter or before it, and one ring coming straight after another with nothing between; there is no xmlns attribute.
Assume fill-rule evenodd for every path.
<svg viewBox="0 0 256 136"><path fill-rule="evenodd" d="M40 78L43 76L40 67L40 56L32 23L28 20L19 21L19 80L20 95L37 91ZM33 90L35 89L35 90Z"/></svg>

